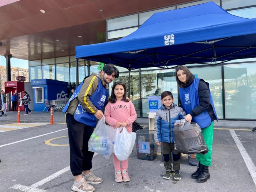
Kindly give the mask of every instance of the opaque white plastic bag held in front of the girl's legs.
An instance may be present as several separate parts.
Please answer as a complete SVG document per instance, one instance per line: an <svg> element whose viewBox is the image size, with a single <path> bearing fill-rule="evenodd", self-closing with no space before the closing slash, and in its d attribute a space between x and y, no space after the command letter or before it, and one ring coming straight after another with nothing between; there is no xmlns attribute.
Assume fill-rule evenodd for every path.
<svg viewBox="0 0 256 192"><path fill-rule="evenodd" d="M113 152L119 161L124 161L132 153L136 133L128 133L125 127L123 127L123 131L121 133L118 130L117 133Z"/></svg>

